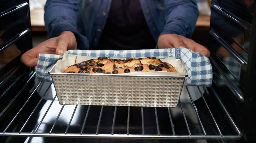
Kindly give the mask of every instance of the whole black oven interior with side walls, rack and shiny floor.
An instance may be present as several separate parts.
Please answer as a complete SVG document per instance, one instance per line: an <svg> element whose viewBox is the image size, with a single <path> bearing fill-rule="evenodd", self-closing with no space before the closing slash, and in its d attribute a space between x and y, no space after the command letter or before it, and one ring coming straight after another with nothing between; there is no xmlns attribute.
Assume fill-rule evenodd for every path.
<svg viewBox="0 0 256 143"><path fill-rule="evenodd" d="M3 0L0 142L254 140L254 5L253 0L212 0L212 86L183 87L176 108L160 108L59 104L53 84L38 81L34 69L19 61L32 48L29 1Z"/></svg>

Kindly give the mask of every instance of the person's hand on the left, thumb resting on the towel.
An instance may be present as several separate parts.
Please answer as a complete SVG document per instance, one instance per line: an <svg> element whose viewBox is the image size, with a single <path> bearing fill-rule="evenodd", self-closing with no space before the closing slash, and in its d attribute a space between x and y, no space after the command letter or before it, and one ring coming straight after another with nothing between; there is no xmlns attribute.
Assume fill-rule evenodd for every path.
<svg viewBox="0 0 256 143"><path fill-rule="evenodd" d="M75 50L76 48L77 43L74 33L71 31L63 31L58 37L46 40L24 53L20 61L28 67L33 67L37 65L39 54L63 55L64 51Z"/></svg>

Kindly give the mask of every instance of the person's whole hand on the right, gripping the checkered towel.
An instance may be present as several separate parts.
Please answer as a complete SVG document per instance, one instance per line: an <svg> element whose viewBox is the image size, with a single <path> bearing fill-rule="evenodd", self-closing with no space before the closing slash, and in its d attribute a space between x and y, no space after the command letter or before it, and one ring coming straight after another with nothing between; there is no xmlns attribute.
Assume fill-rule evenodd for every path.
<svg viewBox="0 0 256 143"><path fill-rule="evenodd" d="M203 45L177 34L163 34L158 38L158 48L187 48L209 57L210 51Z"/></svg>

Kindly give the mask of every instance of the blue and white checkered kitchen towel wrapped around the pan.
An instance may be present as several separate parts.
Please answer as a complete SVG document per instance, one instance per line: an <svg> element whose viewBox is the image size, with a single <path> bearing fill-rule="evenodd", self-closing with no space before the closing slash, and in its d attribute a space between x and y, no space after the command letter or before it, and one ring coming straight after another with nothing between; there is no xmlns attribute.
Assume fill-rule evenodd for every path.
<svg viewBox="0 0 256 143"><path fill-rule="evenodd" d="M209 59L198 52L186 48L148 49L148 50L69 50L71 55L94 56L94 57L156 57L167 58L175 56L182 59L188 76L184 86L211 86L212 66ZM36 77L40 81L52 82L48 71L54 66L60 55L39 54Z"/></svg>

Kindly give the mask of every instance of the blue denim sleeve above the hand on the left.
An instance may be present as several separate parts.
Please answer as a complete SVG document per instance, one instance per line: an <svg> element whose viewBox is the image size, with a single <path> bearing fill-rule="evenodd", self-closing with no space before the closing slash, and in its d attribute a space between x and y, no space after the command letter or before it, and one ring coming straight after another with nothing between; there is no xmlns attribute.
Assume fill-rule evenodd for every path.
<svg viewBox="0 0 256 143"><path fill-rule="evenodd" d="M77 40L77 48L86 50L89 48L88 40L76 28L79 2L80 0L47 0L44 22L49 38L59 36L62 31L72 31Z"/></svg>

